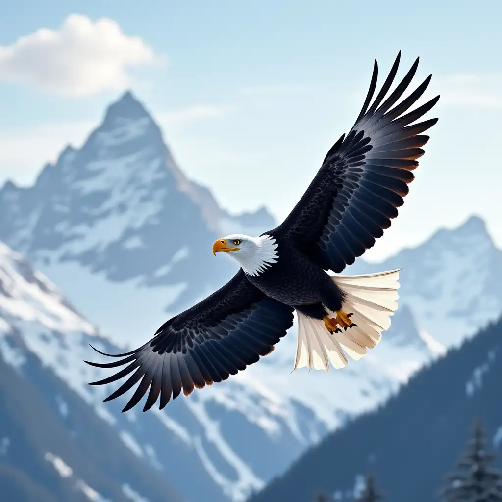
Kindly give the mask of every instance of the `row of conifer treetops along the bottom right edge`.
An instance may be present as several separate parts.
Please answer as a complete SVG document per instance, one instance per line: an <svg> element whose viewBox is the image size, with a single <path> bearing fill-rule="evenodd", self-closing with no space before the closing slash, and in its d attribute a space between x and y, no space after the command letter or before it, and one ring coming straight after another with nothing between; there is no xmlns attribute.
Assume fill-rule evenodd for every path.
<svg viewBox="0 0 502 502"><path fill-rule="evenodd" d="M481 421L477 420L457 469L447 474L444 487L438 491L439 502L502 502L502 470L492 466L494 460L495 456L486 447ZM380 502L385 498L374 476L367 474L364 488L352 500ZM338 502L338 499L320 492L314 502Z"/></svg>

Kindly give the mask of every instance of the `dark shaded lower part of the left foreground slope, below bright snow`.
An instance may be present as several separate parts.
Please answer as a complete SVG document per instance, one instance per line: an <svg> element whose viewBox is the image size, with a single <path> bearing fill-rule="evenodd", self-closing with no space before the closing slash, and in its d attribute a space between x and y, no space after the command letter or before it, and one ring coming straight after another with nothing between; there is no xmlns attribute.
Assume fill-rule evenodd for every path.
<svg viewBox="0 0 502 502"><path fill-rule="evenodd" d="M16 346L16 335L3 343ZM2 495L19 502L51 500L126 502L128 485L149 500L181 500L156 472L150 472L124 446L110 426L99 420L86 403L40 367L33 356L23 364L23 375L0 357L0 456ZM59 391L53 406L31 381L37 378L47 392ZM52 385L51 385L52 384ZM64 396L64 397L62 397ZM65 403L63 416L57 403ZM51 409L52 408L52 409ZM92 498L94 497L94 498ZM144 498L144 499L146 499Z"/></svg>

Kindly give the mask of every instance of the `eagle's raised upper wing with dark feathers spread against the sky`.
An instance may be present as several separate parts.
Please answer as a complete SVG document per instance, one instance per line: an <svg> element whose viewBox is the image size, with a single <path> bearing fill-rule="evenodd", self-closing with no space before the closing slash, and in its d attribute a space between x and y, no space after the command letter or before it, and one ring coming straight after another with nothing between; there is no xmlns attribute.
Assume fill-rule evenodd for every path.
<svg viewBox="0 0 502 502"><path fill-rule="evenodd" d="M408 193L421 135L437 118L409 125L429 111L439 96L403 115L423 94L429 75L406 99L394 106L417 70L419 58L384 101L398 70L401 52L381 91L369 106L376 88L378 64L354 127L330 151L307 191L284 222L267 232L290 239L323 269L340 273L375 243L391 226ZM369 106L369 107L368 107ZM394 108L392 108L394 106Z"/></svg>

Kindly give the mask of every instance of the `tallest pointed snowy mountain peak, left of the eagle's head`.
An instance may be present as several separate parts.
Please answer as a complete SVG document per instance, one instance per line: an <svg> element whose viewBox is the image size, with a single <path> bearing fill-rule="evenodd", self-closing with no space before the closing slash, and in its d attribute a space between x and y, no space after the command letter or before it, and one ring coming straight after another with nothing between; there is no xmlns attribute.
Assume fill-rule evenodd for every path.
<svg viewBox="0 0 502 502"><path fill-rule="evenodd" d="M274 225L265 209L229 215L209 190L186 179L130 92L109 106L82 148L68 146L47 164L34 186L6 183L0 214L0 239L126 341L152 332L166 307L187 306L236 271L208 252L229 226ZM141 312L141 321L123 316L117 324L120 312Z"/></svg>

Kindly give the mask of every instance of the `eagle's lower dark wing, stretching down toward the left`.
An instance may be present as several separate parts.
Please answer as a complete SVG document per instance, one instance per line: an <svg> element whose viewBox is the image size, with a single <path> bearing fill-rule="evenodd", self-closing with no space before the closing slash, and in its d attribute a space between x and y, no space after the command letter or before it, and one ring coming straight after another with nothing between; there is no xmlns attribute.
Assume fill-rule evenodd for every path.
<svg viewBox="0 0 502 502"><path fill-rule="evenodd" d="M265 296L239 270L211 296L167 321L142 347L116 355L92 347L103 355L124 358L108 363L85 361L88 364L128 366L90 385L109 384L135 371L104 401L121 396L141 380L122 412L136 406L149 389L143 411L149 410L159 395L162 410L182 389L187 396L194 387L221 382L257 362L292 325L293 309Z"/></svg>

